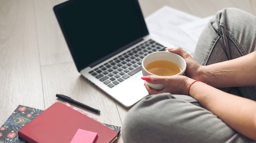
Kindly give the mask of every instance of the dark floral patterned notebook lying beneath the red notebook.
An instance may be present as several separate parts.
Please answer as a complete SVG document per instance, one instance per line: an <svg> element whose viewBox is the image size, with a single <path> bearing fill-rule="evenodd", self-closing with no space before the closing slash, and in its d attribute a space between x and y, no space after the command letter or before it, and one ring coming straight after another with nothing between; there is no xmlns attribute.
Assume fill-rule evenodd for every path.
<svg viewBox="0 0 256 143"><path fill-rule="evenodd" d="M74 108L67 102L64 102L64 104L66 104L67 106L70 106L71 108ZM83 113L83 111L77 108L74 108L74 110L77 110ZM4 124L0 127L0 143L28 143L24 139L18 137L18 130L20 130L20 128L22 128L25 124L27 124L29 121L34 119L36 116L38 116L42 112L43 110L40 110L40 109L19 105L13 111L13 113L10 115L7 121L5 121ZM91 117L86 113L83 113L83 114L85 114L88 117ZM95 119L93 117L91 118ZM109 125L109 124L104 124L104 125L108 126L109 128L112 128L118 134L121 132L121 127L119 126Z"/></svg>

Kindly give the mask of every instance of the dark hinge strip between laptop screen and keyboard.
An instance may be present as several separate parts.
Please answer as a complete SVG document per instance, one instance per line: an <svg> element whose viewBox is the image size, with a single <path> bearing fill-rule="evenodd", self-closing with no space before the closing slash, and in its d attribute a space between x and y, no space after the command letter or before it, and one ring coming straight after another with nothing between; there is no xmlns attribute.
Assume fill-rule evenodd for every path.
<svg viewBox="0 0 256 143"><path fill-rule="evenodd" d="M107 56L104 56L103 58L100 58L99 60L93 62L92 64L89 65L89 67L94 67L95 65L97 65L97 64L99 64L99 63L101 63L101 62L107 60L108 58L110 58L110 57L116 55L116 54L119 53L119 52L122 52L123 50L125 50L125 49L131 47L132 45L135 45L135 44L139 43L139 42L142 41L142 40L143 40L143 38L139 38L139 39L136 39L135 41L132 41L131 43L129 43L129 44L127 44L127 45L125 45L125 46L119 48L118 50L116 50L116 51L114 51L114 52L108 54Z"/></svg>

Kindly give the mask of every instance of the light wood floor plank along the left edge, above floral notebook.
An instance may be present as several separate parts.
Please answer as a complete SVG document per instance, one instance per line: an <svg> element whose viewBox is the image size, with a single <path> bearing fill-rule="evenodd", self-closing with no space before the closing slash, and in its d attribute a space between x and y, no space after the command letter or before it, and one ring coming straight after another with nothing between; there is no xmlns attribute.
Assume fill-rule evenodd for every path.
<svg viewBox="0 0 256 143"><path fill-rule="evenodd" d="M33 0L0 0L0 124L18 105L45 109Z"/></svg>

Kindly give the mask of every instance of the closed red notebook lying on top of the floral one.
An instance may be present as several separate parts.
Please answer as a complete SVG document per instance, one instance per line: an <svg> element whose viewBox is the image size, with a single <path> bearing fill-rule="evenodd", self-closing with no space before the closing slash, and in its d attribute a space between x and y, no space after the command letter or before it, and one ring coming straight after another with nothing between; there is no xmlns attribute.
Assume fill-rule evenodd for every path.
<svg viewBox="0 0 256 143"><path fill-rule="evenodd" d="M61 102L23 126L18 135L29 143L70 143L79 129L97 133L94 143L113 143L117 139L115 130Z"/></svg>

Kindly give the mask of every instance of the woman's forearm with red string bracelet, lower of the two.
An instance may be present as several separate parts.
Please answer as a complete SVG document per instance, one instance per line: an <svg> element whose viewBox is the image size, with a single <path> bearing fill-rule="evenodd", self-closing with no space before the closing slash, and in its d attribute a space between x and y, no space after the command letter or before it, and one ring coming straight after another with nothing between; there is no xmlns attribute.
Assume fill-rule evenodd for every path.
<svg viewBox="0 0 256 143"><path fill-rule="evenodd" d="M256 102L231 95L203 82L191 85L189 94L234 130L256 141Z"/></svg>

